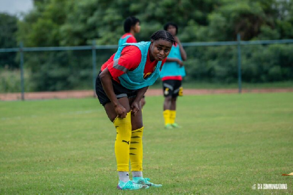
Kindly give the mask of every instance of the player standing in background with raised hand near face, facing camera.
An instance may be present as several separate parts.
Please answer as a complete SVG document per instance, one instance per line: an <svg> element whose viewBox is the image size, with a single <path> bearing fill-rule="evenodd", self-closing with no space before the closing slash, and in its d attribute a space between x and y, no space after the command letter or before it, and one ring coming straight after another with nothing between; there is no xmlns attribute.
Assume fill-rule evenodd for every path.
<svg viewBox="0 0 293 195"><path fill-rule="evenodd" d="M173 127L179 127L175 123L176 118L176 100L178 96L182 96L182 77L185 77L185 69L183 61L186 60L186 52L183 49L181 42L176 36L178 33L178 26L175 23L168 22L164 25L164 30L170 32L176 42L168 55L167 61L162 68L160 77L163 80L164 91L164 120L165 128L172 129Z"/></svg>

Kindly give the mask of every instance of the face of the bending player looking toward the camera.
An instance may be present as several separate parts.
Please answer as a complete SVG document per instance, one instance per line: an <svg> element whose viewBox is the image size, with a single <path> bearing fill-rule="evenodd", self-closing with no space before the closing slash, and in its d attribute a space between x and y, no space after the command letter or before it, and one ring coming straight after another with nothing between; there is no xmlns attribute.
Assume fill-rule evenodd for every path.
<svg viewBox="0 0 293 195"><path fill-rule="evenodd" d="M150 45L150 59L162 61L167 58L172 48L172 43L167 40L151 40Z"/></svg>

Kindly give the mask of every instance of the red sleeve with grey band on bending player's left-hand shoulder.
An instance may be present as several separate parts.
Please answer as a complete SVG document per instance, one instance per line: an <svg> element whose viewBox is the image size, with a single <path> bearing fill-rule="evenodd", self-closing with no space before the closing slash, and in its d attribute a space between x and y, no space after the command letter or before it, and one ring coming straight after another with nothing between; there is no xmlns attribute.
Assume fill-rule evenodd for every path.
<svg viewBox="0 0 293 195"><path fill-rule="evenodd" d="M138 67L142 59L141 51L138 47L130 45L125 47L119 59L108 64L108 70L114 80L128 71L132 71Z"/></svg>

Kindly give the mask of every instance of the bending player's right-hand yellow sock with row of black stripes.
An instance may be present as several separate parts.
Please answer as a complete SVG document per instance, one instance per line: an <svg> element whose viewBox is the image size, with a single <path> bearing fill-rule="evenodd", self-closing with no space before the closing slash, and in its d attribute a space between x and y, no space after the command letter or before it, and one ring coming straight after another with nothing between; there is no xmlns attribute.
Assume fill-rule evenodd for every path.
<svg viewBox="0 0 293 195"><path fill-rule="evenodd" d="M144 127L131 133L129 150L131 171L143 171L143 131Z"/></svg>

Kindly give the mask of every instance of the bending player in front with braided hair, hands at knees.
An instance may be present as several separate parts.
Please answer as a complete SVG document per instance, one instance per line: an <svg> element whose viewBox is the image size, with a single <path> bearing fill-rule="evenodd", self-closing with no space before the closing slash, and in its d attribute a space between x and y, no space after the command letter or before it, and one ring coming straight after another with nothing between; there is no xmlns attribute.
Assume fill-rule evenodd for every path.
<svg viewBox="0 0 293 195"><path fill-rule="evenodd" d="M164 30L155 32L151 41L126 43L102 66L96 79L96 94L108 118L114 123L117 136L115 155L121 190L137 190L160 184L143 177L143 118L140 100L159 77L173 43L173 36ZM129 158L132 179L129 180Z"/></svg>

